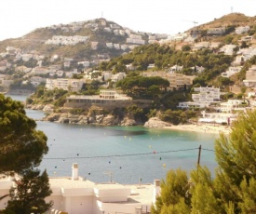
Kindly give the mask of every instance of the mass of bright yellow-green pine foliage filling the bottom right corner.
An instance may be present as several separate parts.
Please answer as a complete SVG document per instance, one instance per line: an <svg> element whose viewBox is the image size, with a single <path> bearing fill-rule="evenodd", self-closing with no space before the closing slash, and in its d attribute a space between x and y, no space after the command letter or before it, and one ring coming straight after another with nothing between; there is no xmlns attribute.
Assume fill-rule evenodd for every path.
<svg viewBox="0 0 256 214"><path fill-rule="evenodd" d="M255 120L255 110L240 114L230 135L220 134L214 179L208 167L192 170L190 180L185 171L170 170L152 213L256 213Z"/></svg>

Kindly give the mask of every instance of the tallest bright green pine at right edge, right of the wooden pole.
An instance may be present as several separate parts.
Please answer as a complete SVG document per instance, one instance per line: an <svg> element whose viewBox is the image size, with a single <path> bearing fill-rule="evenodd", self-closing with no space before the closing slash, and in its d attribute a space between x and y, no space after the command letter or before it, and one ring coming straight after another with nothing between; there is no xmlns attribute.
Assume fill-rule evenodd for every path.
<svg viewBox="0 0 256 214"><path fill-rule="evenodd" d="M215 151L219 168L216 173L215 190L224 209L230 202L234 204L235 213L254 209L248 203L254 195L256 178L256 111L240 114L233 123L229 136L220 135L216 140ZM247 186L248 185L248 186ZM250 189L250 194L243 193ZM255 197L254 197L255 198ZM253 199L254 200L254 199ZM250 213L250 212L249 212Z"/></svg>

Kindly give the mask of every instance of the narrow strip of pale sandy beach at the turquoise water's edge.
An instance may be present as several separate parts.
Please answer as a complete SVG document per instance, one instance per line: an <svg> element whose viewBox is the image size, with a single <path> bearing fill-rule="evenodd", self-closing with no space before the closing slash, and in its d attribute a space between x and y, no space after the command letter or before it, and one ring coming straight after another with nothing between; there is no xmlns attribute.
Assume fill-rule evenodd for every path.
<svg viewBox="0 0 256 214"><path fill-rule="evenodd" d="M220 125L209 125L209 124L200 124L200 125L178 125L178 126L171 126L165 127L168 129L173 130L181 130L181 131L193 131L193 132L204 132L204 133L212 133L212 134L219 134L223 132L224 134L229 134L231 131L230 127L227 126L220 126Z"/></svg>

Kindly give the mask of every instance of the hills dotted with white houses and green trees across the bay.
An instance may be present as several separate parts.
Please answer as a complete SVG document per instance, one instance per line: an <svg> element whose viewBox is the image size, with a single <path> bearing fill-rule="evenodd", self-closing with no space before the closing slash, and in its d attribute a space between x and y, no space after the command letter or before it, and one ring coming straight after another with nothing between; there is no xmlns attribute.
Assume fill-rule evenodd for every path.
<svg viewBox="0 0 256 214"><path fill-rule="evenodd" d="M111 89L132 100L109 110L119 122L129 115L141 124L157 115L185 123L195 116L191 108L242 100L254 91L255 32L255 18L237 13L175 35L133 32L104 19L49 26L0 43L1 88L31 93L37 87L29 104L60 108L75 102L73 113L88 115L85 103L95 99L72 96L100 96L93 104L102 108L110 100L101 100L101 90ZM252 103L243 99L239 105Z"/></svg>

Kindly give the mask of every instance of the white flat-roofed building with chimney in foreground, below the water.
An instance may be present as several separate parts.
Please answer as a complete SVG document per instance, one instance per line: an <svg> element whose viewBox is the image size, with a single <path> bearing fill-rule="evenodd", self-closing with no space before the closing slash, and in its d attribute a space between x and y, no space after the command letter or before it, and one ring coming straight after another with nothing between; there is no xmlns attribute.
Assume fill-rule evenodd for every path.
<svg viewBox="0 0 256 214"><path fill-rule="evenodd" d="M13 178L0 178L0 194L8 194L15 185ZM73 175L49 178L52 194L46 201L54 205L47 213L103 214L103 213L143 213L142 208L150 211L156 195L160 193L160 181L153 184L122 185L115 182L94 183L78 176L78 166L73 164ZM0 201L0 209L7 207L9 197Z"/></svg>

